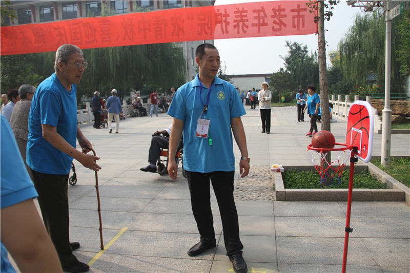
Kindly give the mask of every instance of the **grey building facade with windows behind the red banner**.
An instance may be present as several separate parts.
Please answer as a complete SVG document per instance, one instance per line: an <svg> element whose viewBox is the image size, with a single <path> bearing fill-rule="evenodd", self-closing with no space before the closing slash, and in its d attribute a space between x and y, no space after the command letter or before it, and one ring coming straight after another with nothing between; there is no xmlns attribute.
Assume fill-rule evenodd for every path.
<svg viewBox="0 0 410 273"><path fill-rule="evenodd" d="M17 19L4 18L7 26L40 24L59 20L112 16L133 12L157 11L175 8L204 7L214 5L214 0L132 0L132 1L12 1ZM202 43L214 44L213 40L185 41L175 43L180 47L187 64L187 81L196 75L195 49Z"/></svg>

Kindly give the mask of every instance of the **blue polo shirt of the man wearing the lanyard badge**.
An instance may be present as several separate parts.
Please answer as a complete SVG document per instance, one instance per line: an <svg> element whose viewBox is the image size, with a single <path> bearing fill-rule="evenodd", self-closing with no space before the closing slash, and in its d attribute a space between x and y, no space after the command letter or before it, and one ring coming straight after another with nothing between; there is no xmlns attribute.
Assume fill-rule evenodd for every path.
<svg viewBox="0 0 410 273"><path fill-rule="evenodd" d="M231 118L246 114L236 88L218 77L211 86L208 119L211 120L209 138L195 136L197 120L209 89L195 79L185 83L175 93L168 115L183 120L183 168L191 172L210 173L234 171L235 157L231 133ZM201 94L200 94L201 93ZM212 139L212 145L209 144Z"/></svg>

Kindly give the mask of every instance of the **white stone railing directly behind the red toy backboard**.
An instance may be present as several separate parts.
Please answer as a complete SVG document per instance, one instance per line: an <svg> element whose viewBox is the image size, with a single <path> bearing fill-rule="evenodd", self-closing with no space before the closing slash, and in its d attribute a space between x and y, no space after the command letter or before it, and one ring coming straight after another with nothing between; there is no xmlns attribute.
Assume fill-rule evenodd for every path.
<svg viewBox="0 0 410 273"><path fill-rule="evenodd" d="M359 100L359 96L355 95L354 101ZM372 104L372 96L366 96L366 101ZM346 95L344 97L344 101L342 101L342 95L338 95L336 99L336 95L331 95L331 100L329 102L333 103L333 110L332 115L336 116L341 119L346 119L349 115L350 107L352 106L353 102L350 102L350 97ZM381 130L381 119L377 115L377 109L373 108L374 114L374 133L378 134L379 130Z"/></svg>

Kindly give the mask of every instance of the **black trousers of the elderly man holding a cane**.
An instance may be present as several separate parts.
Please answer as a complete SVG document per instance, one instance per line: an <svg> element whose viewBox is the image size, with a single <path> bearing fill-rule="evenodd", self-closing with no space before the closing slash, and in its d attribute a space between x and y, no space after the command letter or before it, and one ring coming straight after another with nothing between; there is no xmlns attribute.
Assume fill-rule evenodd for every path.
<svg viewBox="0 0 410 273"><path fill-rule="evenodd" d="M61 265L71 265L77 262L77 258L72 253L69 237L68 174L53 175L31 171L44 225L57 250L58 258Z"/></svg>

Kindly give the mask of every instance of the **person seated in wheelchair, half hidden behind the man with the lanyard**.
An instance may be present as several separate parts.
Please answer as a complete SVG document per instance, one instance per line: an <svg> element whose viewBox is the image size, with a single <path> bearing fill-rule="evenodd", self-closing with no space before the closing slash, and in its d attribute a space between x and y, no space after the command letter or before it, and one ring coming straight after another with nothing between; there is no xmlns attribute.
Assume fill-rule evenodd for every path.
<svg viewBox="0 0 410 273"><path fill-rule="evenodd" d="M170 140L169 135L171 133L171 127L172 127L172 124L170 124L169 127L163 131L155 131L155 133L152 135L150 151L148 153L148 162L150 164L139 170L141 170L142 172L151 172L151 173L157 172L157 167L155 163L157 162L158 157L161 154L161 149L168 149L168 142ZM168 167L168 160L167 160L167 166L159 174L160 175L168 174L167 167Z"/></svg>

